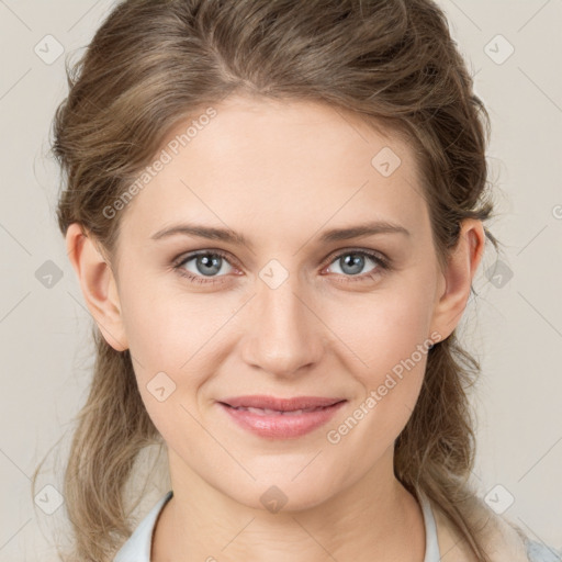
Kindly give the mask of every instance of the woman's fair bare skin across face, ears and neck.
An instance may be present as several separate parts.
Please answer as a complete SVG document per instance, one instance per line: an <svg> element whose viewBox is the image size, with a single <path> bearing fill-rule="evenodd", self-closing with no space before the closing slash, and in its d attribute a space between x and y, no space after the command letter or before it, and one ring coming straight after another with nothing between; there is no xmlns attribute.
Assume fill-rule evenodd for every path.
<svg viewBox="0 0 562 562"><path fill-rule="evenodd" d="M454 329L482 257L482 223L462 224L441 270L417 168L397 137L313 102L240 97L215 109L127 205L113 271L78 224L67 234L89 310L111 346L131 349L168 446L173 498L158 519L151 560L422 562L423 515L393 474L393 449L426 355L338 443L326 432L416 346ZM383 147L402 160L390 177L371 165ZM373 220L409 235L317 241L326 229ZM252 247L150 238L177 223L226 225ZM183 265L220 282L195 284L173 270L175 258L194 250L227 254L214 277L195 259ZM392 269L364 257L352 276L339 260L346 250L382 252ZM271 259L289 276L276 289L259 277ZM176 390L160 402L147 384L162 371ZM240 429L216 404L241 394L348 402L326 426L281 440ZM260 502L271 485L288 498L278 513Z"/></svg>

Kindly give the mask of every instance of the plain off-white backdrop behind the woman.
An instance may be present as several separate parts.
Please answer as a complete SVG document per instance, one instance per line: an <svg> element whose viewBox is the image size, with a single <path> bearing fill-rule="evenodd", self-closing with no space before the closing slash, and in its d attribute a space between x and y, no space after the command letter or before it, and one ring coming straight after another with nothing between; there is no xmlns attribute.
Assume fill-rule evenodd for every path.
<svg viewBox="0 0 562 562"><path fill-rule="evenodd" d="M440 4L492 117L488 227L504 244L499 256L486 249L461 326L482 364L473 479L491 506L562 549L562 1ZM87 396L91 318L55 221L49 127L65 58L112 5L0 0L0 562L54 560L64 517L55 457L67 445L50 448Z"/></svg>

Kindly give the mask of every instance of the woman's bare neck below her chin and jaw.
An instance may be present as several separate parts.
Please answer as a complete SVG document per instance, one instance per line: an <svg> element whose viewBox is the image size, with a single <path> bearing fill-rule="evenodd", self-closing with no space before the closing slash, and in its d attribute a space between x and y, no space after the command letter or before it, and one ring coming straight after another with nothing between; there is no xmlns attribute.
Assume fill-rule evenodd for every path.
<svg viewBox="0 0 562 562"><path fill-rule="evenodd" d="M416 499L381 467L316 505L270 513L240 504L170 456L173 497L158 518L151 562L423 562L425 526ZM386 463L387 468L387 463ZM384 482L384 484L382 484ZM261 486L263 487L263 486ZM260 493L258 492L258 495Z"/></svg>

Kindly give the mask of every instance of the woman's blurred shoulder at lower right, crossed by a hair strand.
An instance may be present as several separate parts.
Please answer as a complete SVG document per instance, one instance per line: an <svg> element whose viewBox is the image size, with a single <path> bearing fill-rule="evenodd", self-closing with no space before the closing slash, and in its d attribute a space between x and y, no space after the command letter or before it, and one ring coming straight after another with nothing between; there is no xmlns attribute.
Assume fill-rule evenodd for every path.
<svg viewBox="0 0 562 562"><path fill-rule="evenodd" d="M438 506L431 507L441 561L479 562L447 515ZM496 515L477 497L467 503L463 515L479 529L480 542L492 562L562 562L561 553L527 538L519 527Z"/></svg>

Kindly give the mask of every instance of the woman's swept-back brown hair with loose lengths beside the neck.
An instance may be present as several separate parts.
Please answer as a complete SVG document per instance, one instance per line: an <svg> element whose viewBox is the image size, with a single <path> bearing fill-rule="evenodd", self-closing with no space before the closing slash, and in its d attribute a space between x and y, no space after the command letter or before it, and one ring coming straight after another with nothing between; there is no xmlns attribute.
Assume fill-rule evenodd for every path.
<svg viewBox="0 0 562 562"><path fill-rule="evenodd" d="M122 213L109 218L104 209L180 120L234 92L328 103L402 135L416 155L442 265L461 222L491 216L488 115L431 0L124 1L67 72L69 94L54 121L66 180L58 223L64 234L82 225L110 265ZM161 445L128 350L115 351L95 326L93 336L93 380L64 486L75 535L65 560L81 562L111 560L128 537L125 485L139 452ZM394 471L487 561L467 507L475 498L467 389L479 370L454 331L430 349L419 398L395 443Z"/></svg>

